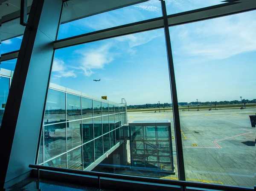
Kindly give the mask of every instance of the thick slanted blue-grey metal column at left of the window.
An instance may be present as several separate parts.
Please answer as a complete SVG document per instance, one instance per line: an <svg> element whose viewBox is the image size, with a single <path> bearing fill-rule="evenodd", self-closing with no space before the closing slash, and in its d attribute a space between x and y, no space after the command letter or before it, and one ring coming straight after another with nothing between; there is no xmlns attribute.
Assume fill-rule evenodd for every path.
<svg viewBox="0 0 256 191"><path fill-rule="evenodd" d="M0 189L35 163L62 0L34 0L0 128Z"/></svg>

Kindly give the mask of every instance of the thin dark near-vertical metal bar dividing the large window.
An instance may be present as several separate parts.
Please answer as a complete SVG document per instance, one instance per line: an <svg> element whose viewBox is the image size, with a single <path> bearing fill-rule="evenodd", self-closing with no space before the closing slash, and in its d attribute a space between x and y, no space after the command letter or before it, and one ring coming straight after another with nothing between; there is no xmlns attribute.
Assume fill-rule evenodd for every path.
<svg viewBox="0 0 256 191"><path fill-rule="evenodd" d="M179 106L178 106L174 64L172 59L172 47L171 47L171 39L169 34L169 26L168 26L168 20L167 20L165 1L161 0L161 6L162 6L162 12L163 12L163 25L164 25L164 33L165 33L165 39L166 39L166 51L167 51L167 60L169 64L169 74L170 74L170 84L171 84L172 112L173 112L173 119L174 119L174 132L176 137L178 177L179 177L179 180L185 181L186 179L185 179L185 169L184 169L184 161L183 161L182 139L181 139L181 133L180 133Z"/></svg>

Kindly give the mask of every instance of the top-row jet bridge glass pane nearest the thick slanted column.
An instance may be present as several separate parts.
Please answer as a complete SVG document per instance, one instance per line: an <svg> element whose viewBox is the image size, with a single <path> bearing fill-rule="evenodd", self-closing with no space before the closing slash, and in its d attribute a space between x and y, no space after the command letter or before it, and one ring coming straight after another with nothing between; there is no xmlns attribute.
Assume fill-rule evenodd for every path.
<svg viewBox="0 0 256 191"><path fill-rule="evenodd" d="M44 124L66 121L66 95L64 92L49 89L45 106Z"/></svg>

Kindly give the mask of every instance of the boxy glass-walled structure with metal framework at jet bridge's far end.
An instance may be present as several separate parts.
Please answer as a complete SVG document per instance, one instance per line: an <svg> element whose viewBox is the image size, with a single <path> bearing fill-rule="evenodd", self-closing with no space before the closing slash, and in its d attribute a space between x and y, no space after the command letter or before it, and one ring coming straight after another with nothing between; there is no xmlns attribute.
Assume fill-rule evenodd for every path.
<svg viewBox="0 0 256 191"><path fill-rule="evenodd" d="M131 167L175 174L170 120L129 123Z"/></svg>

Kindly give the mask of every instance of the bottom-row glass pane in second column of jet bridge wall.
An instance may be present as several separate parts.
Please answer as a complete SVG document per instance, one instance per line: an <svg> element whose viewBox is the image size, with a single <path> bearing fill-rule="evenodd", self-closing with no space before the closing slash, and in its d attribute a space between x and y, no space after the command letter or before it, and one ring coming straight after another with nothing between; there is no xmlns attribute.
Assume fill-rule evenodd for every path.
<svg viewBox="0 0 256 191"><path fill-rule="evenodd" d="M67 153L67 168L83 170L82 147L76 148Z"/></svg>

